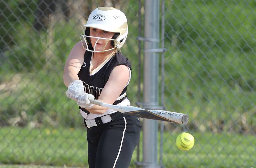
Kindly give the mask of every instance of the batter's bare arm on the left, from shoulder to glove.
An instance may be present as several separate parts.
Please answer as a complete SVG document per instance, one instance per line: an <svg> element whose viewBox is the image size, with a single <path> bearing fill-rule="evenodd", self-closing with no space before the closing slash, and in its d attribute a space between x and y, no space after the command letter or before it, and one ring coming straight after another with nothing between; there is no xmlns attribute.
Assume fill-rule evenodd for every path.
<svg viewBox="0 0 256 168"><path fill-rule="evenodd" d="M72 81L79 80L77 74L84 63L84 53L81 42L76 43L70 51L63 72L63 81L67 87Z"/></svg>

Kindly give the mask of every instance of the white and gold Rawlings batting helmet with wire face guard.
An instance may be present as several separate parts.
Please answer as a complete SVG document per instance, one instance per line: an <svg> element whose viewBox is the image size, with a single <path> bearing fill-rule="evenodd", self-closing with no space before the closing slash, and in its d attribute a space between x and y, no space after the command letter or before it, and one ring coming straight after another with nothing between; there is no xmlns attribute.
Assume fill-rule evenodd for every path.
<svg viewBox="0 0 256 168"><path fill-rule="evenodd" d="M96 8L92 11L90 16L88 17L87 23L83 27L85 27L85 33L84 35L80 34L80 38L81 41L86 41L85 45L87 47L85 48L85 50L91 52L104 52L113 50L115 48L121 48L124 45L124 42L128 35L128 25L126 16L121 10L118 10L113 7L106 6ZM90 36L90 27L101 29L107 32L115 32L116 34L112 37L112 39L107 39L108 41L111 41L111 45L113 46L113 48L104 50L105 46L107 45L106 43L102 51L95 51L95 46L93 47L93 50L90 50L88 44L91 44L91 38L96 38L97 41L99 39L106 39Z"/></svg>

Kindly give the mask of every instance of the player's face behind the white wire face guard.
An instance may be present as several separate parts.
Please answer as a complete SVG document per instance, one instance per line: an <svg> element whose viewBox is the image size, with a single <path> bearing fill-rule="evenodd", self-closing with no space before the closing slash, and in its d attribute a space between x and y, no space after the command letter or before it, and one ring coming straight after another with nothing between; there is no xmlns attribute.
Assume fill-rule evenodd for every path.
<svg viewBox="0 0 256 168"><path fill-rule="evenodd" d="M107 32L104 30L100 30L100 29L91 27L90 28L90 36L106 38L106 39L99 39L99 40L98 40L98 38L91 38L93 48L94 48L96 41L98 40L94 50L102 51L103 49L108 50L108 49L113 48L113 46L111 46L111 40L108 41L107 39L111 39L114 36L114 34L115 34L114 32Z"/></svg>

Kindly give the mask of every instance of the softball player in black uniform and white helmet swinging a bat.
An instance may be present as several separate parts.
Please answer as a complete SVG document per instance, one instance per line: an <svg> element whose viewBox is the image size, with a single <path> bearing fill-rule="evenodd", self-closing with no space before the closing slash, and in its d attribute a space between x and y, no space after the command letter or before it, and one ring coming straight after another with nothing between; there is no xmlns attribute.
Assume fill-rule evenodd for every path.
<svg viewBox="0 0 256 168"><path fill-rule="evenodd" d="M127 38L127 19L120 10L99 7L84 27L82 43L72 48L64 68L66 94L77 102L84 117L89 167L125 168L139 141L139 118L93 105L89 99L130 105L126 90L131 63L118 51Z"/></svg>

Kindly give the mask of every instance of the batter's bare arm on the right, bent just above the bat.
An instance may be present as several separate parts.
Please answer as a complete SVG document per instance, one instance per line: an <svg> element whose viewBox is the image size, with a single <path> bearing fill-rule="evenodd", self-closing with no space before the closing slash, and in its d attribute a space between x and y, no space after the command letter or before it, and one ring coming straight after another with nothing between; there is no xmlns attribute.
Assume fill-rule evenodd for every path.
<svg viewBox="0 0 256 168"><path fill-rule="evenodd" d="M127 66L116 66L110 73L108 81L100 93L99 101L113 104L127 85L129 76L130 71ZM94 105L91 109L87 110L93 114L104 114L107 109L106 107Z"/></svg>

